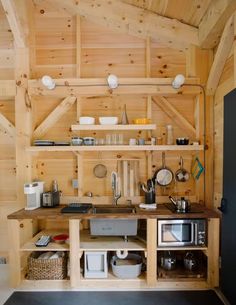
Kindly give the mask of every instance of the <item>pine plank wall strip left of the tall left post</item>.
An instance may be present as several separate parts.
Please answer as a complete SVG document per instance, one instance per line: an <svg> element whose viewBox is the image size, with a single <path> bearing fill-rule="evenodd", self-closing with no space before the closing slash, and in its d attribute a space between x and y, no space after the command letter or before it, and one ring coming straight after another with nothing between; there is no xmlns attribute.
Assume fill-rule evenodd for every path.
<svg viewBox="0 0 236 305"><path fill-rule="evenodd" d="M0 80L14 79L13 36L0 5ZM0 99L0 114L15 123L14 100ZM0 125L0 256L8 250L7 215L16 203L15 142Z"/></svg>

